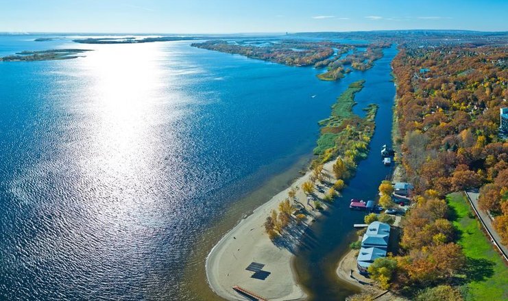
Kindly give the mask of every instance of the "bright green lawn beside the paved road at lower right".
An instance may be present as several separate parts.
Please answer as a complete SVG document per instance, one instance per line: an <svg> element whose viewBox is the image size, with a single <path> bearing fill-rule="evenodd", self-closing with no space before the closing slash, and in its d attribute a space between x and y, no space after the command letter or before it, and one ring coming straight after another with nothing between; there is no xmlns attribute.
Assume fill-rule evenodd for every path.
<svg viewBox="0 0 508 301"><path fill-rule="evenodd" d="M461 233L459 244L468 257L465 273L466 300L508 300L508 267L483 232L481 224L470 214L468 200L463 193L447 196L452 209L453 224Z"/></svg>

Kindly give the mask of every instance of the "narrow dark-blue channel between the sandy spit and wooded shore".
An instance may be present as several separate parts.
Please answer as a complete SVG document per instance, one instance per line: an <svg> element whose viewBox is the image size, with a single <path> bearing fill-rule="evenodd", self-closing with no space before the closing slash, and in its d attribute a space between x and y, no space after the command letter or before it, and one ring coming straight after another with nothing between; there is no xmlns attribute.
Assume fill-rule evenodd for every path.
<svg viewBox="0 0 508 301"><path fill-rule="evenodd" d="M351 211L349 200L375 199L380 181L390 173L390 168L381 163L378 150L383 144L391 143L395 86L390 64L397 49L393 46L385 49L384 53L384 57L372 69L351 74L352 77L365 79L365 88L356 94L354 112L363 116L362 109L366 105L379 105L370 153L367 159L359 162L356 175L343 190L342 196L335 200L324 218L309 228L296 254L294 265L298 280L309 293L310 300L343 300L356 292L350 284L337 278L335 270L340 257L348 251L348 245L356 235L353 224L363 222L365 216L365 212Z"/></svg>

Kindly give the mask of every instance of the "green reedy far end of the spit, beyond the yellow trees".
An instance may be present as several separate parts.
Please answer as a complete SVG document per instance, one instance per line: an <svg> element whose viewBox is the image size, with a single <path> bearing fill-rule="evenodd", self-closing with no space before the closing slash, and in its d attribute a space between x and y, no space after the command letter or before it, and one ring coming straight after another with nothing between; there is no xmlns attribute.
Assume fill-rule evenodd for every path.
<svg viewBox="0 0 508 301"><path fill-rule="evenodd" d="M352 159L365 158L368 145L374 133L374 118L378 105L365 107L365 118L354 114L354 94L363 89L365 81L355 81L349 88L337 97L332 105L332 114L329 118L319 121L321 134L314 148L314 154L319 156L318 161L324 163L337 155L345 155Z"/></svg>

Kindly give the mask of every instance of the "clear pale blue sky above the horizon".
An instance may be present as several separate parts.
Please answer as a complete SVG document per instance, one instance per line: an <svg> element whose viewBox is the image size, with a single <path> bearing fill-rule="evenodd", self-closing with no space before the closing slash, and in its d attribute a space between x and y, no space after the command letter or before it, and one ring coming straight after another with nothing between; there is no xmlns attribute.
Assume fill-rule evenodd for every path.
<svg viewBox="0 0 508 301"><path fill-rule="evenodd" d="M0 32L508 31L508 0L0 0Z"/></svg>

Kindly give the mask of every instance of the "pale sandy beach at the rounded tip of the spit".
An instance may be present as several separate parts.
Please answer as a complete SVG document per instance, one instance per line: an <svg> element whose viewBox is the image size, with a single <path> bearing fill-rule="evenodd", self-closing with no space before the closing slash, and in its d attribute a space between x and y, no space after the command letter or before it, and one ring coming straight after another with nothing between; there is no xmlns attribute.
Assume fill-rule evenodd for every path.
<svg viewBox="0 0 508 301"><path fill-rule="evenodd" d="M323 170L332 179L333 163L333 161L326 163ZM306 195L300 188L302 183L309 181L310 176L309 171L290 187L255 209L251 215L224 235L210 251L206 259L206 276L208 284L217 295L227 300L245 300L245 297L232 289L234 285L238 285L269 300L306 298L306 293L296 282L291 260L305 229L320 215L319 211L313 210L307 203ZM288 197L291 187L298 187L295 199L311 214L302 224L291 224L282 237L271 241L265 233L263 224L270 211L277 209L278 204ZM315 195L323 196L317 190ZM262 272L254 275L254 272L245 270L251 263L261 263Z"/></svg>

